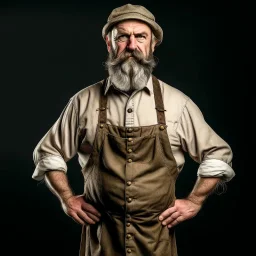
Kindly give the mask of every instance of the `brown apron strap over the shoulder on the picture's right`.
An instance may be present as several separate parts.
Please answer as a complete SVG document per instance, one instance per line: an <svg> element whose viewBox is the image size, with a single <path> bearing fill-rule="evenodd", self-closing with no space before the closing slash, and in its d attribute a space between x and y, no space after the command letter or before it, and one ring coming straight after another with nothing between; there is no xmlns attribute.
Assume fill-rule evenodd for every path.
<svg viewBox="0 0 256 256"><path fill-rule="evenodd" d="M158 79L155 76L152 76L153 79L153 90L155 96L155 104L156 104L156 114L157 114L157 122L158 124L166 124L165 122L165 114L164 111L164 102L162 97L162 92L160 88L160 84Z"/></svg>

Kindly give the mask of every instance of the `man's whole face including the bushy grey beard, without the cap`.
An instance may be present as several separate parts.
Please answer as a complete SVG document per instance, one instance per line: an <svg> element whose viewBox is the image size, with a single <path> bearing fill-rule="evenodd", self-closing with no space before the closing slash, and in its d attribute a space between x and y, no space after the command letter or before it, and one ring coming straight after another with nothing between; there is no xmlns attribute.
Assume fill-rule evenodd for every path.
<svg viewBox="0 0 256 256"><path fill-rule="evenodd" d="M129 20L119 23L106 37L109 56L106 67L112 83L122 91L140 90L156 65L152 32L145 23ZM152 48L151 48L152 47Z"/></svg>

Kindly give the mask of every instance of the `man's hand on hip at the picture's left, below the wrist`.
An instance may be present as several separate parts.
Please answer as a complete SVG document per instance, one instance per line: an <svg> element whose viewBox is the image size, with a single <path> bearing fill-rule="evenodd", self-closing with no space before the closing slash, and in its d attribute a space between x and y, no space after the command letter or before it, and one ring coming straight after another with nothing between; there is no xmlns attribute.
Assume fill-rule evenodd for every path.
<svg viewBox="0 0 256 256"><path fill-rule="evenodd" d="M81 225L95 224L100 219L100 213L85 202L83 196L71 196L61 203L64 212Z"/></svg>

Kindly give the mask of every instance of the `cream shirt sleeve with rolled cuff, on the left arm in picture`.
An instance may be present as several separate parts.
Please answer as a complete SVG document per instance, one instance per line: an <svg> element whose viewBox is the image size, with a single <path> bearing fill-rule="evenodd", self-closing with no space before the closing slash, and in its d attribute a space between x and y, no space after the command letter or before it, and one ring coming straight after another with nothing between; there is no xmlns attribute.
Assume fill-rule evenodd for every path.
<svg viewBox="0 0 256 256"><path fill-rule="evenodd" d="M40 181L44 179L45 172L51 170L67 172L66 162L77 153L78 133L78 116L71 98L33 151L36 167L32 178Z"/></svg>

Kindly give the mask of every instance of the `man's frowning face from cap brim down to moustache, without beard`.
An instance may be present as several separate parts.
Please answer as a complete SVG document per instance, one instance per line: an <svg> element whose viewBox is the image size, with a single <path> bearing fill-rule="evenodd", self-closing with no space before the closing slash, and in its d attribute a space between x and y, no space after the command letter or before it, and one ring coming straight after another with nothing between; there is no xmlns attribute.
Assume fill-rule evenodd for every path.
<svg viewBox="0 0 256 256"><path fill-rule="evenodd" d="M134 50L139 51L144 57L148 57L153 52L154 44L151 44L151 29L141 21L127 20L116 25L116 35L114 36L113 48L115 48L116 57L122 52ZM150 49L152 47L152 49ZM108 51L111 51L110 42Z"/></svg>

